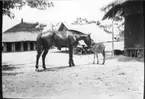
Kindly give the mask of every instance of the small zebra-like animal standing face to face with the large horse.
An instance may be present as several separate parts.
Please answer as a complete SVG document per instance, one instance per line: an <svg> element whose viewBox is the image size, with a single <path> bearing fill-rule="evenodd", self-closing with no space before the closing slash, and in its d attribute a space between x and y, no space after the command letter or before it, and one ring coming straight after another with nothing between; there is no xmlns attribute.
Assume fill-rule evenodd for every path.
<svg viewBox="0 0 145 99"><path fill-rule="evenodd" d="M95 56L97 57L97 64L99 64L98 54L101 53L103 55L103 65L105 63L105 45L103 43L95 43L92 42L91 50L94 53L94 61L93 64L95 64Z"/></svg>

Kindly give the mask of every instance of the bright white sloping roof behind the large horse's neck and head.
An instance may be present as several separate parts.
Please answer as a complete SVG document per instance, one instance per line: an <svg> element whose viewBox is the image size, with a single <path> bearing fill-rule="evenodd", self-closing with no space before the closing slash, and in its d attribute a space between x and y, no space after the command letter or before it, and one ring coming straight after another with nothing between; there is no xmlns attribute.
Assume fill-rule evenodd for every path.
<svg viewBox="0 0 145 99"><path fill-rule="evenodd" d="M95 42L112 41L112 35L106 33L104 30L102 30L99 26L97 26L94 23L86 24L86 25L69 25L66 23L64 23L64 24L68 29L78 30L85 34L91 33L91 38Z"/></svg>

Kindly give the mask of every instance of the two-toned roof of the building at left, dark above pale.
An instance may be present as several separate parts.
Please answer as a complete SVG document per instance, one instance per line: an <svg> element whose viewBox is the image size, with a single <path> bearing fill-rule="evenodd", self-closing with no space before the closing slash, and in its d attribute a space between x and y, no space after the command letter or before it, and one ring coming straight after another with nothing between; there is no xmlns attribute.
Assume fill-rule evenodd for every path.
<svg viewBox="0 0 145 99"><path fill-rule="evenodd" d="M36 41L37 35L41 32L40 28L37 28L38 23L21 23L6 30L2 34L2 42L19 42L19 41Z"/></svg>

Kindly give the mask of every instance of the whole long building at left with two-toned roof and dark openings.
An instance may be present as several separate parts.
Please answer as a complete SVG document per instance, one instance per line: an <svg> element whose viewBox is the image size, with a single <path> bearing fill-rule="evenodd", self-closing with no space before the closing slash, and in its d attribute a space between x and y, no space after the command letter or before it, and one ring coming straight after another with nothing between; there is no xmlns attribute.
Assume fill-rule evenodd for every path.
<svg viewBox="0 0 145 99"><path fill-rule="evenodd" d="M36 49L36 38L41 32L39 23L21 22L2 34L3 52L32 51Z"/></svg>

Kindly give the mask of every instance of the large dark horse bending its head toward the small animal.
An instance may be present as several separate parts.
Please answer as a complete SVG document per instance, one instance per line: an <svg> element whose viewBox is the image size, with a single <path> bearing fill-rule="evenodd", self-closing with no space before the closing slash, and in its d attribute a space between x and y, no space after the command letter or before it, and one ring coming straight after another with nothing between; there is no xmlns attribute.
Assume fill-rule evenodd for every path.
<svg viewBox="0 0 145 99"><path fill-rule="evenodd" d="M45 57L48 53L48 50L52 46L56 46L59 50L62 47L69 48L69 66L75 66L73 62L73 48L78 45L79 40L84 40L86 45L90 47L91 37L90 34L84 34L76 30L67 30L67 31L48 31L45 33L40 33L37 36L37 56L36 56L36 70L38 70L38 61L42 54L42 66L45 67Z"/></svg>

